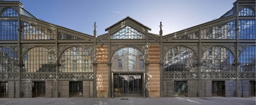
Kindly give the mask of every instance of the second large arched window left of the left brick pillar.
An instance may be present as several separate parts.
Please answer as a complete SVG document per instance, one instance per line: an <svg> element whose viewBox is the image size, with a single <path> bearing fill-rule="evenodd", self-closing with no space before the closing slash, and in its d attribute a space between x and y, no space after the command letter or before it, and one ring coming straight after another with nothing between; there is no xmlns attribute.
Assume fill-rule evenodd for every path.
<svg viewBox="0 0 256 105"><path fill-rule="evenodd" d="M44 47L35 47L26 52L23 57L22 72L56 72L53 52Z"/></svg>

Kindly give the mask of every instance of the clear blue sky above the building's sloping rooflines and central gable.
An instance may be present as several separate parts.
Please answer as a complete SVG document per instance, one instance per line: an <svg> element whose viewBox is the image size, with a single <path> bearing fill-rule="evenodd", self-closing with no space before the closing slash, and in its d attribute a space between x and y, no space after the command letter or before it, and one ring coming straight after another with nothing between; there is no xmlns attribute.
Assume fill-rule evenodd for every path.
<svg viewBox="0 0 256 105"><path fill-rule="evenodd" d="M163 35L219 18L236 0L20 0L36 18L93 35L130 16Z"/></svg>

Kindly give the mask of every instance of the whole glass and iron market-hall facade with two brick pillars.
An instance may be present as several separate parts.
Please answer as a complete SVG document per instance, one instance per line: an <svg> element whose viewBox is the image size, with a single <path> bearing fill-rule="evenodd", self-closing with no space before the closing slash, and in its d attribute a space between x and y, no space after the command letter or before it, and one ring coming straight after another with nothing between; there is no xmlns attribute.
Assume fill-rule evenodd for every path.
<svg viewBox="0 0 256 105"><path fill-rule="evenodd" d="M163 35L127 16L84 34L0 1L0 97L255 97L256 2Z"/></svg>

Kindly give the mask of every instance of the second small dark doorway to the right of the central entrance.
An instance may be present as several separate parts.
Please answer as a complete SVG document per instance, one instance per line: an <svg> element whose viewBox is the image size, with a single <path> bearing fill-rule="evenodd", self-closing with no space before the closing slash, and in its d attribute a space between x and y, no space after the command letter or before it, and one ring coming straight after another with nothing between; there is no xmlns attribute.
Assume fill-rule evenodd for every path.
<svg viewBox="0 0 256 105"><path fill-rule="evenodd" d="M225 97L225 81L212 82L212 95Z"/></svg>

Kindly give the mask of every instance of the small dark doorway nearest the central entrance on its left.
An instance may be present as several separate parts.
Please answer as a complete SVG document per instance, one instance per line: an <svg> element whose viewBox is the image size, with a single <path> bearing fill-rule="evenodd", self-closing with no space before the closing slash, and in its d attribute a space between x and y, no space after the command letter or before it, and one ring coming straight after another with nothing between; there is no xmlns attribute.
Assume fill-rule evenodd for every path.
<svg viewBox="0 0 256 105"><path fill-rule="evenodd" d="M70 81L69 82L69 97L83 97L83 82Z"/></svg>

